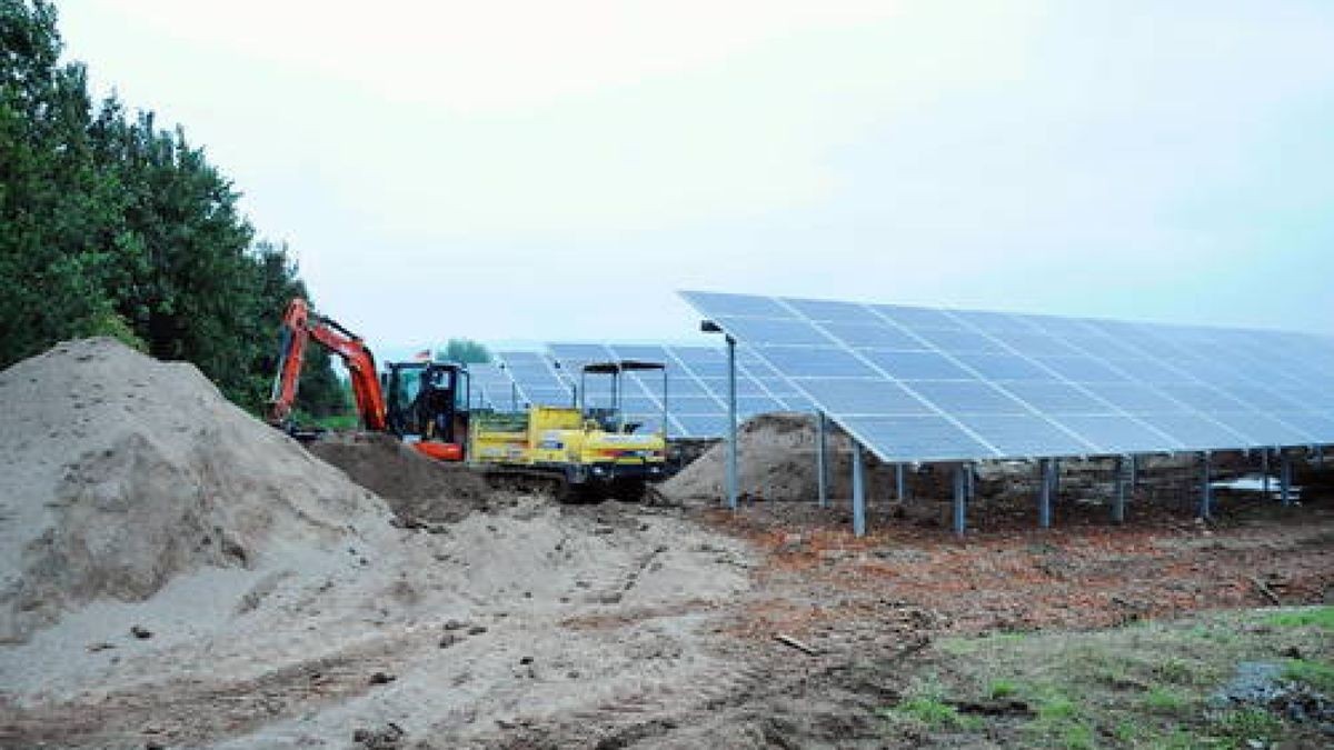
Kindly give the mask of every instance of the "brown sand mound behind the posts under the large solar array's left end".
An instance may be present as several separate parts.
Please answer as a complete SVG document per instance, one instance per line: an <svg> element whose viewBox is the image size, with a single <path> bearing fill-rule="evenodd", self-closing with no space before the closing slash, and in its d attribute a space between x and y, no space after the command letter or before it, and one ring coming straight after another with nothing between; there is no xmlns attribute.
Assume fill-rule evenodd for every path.
<svg viewBox="0 0 1334 750"><path fill-rule="evenodd" d="M831 496L851 495L851 442L830 426L826 438ZM815 420L808 414L762 414L738 430L739 491L764 500L812 500L816 498ZM867 494L894 494L894 468L866 456ZM718 500L726 494L727 443L722 442L658 486L668 500Z"/></svg>

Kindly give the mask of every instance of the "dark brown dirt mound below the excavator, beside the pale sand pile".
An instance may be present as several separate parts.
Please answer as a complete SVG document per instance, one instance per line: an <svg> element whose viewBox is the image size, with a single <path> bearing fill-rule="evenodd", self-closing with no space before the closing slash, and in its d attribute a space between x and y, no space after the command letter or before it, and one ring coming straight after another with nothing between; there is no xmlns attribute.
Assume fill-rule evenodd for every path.
<svg viewBox="0 0 1334 750"><path fill-rule="evenodd" d="M442 463L392 435L350 432L316 440L311 452L374 491L404 520L456 522L482 506L486 480L462 464Z"/></svg>

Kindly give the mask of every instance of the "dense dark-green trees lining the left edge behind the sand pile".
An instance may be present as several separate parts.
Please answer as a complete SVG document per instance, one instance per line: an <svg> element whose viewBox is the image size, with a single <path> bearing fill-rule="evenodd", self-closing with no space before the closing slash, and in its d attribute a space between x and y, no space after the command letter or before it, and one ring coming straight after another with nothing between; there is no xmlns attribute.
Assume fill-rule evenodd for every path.
<svg viewBox="0 0 1334 750"><path fill-rule="evenodd" d="M0 0L0 367L52 343L116 336L199 366L233 400L268 395L276 324L305 294L284 246L255 242L231 181L185 140L95 105L61 63L55 8ZM343 408L312 348L300 406Z"/></svg>

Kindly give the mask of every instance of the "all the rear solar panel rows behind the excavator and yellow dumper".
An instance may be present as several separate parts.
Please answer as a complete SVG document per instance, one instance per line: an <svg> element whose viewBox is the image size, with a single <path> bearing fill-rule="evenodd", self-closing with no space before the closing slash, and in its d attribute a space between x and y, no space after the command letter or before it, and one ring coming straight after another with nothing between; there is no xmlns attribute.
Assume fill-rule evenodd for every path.
<svg viewBox="0 0 1334 750"><path fill-rule="evenodd" d="M628 372L620 404L627 420L656 430L667 400L667 432L682 438L718 438L727 431L727 355L718 347L620 343L554 343L546 352L498 351L495 364L470 366L474 407L515 411L530 404L572 404L582 367L591 362L643 360L666 364L663 372ZM744 352L738 359L736 408L744 420L756 414L810 410L808 402L772 367ZM608 406L610 379L590 375L587 404Z"/></svg>

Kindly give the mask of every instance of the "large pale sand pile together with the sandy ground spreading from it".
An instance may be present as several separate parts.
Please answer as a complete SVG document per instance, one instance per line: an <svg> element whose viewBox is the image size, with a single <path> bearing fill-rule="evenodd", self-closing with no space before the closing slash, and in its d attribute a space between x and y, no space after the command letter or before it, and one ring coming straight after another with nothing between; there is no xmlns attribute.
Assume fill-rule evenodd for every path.
<svg viewBox="0 0 1334 750"><path fill-rule="evenodd" d="M740 679L710 643L752 552L679 508L488 495L395 526L195 368L107 340L0 374L0 746L347 747L394 722L459 747Z"/></svg>

